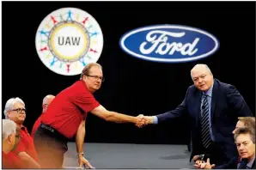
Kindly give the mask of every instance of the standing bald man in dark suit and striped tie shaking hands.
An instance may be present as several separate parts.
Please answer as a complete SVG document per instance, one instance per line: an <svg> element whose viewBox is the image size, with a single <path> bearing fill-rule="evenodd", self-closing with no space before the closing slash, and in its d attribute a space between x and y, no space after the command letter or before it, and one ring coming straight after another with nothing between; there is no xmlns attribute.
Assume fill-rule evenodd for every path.
<svg viewBox="0 0 256 170"><path fill-rule="evenodd" d="M192 154L209 155L216 165L229 161L235 152L232 131L238 117L253 116L237 89L213 78L209 67L197 64L191 70L194 84L176 109L156 116L143 116L145 124L159 124L182 115L190 118Z"/></svg>

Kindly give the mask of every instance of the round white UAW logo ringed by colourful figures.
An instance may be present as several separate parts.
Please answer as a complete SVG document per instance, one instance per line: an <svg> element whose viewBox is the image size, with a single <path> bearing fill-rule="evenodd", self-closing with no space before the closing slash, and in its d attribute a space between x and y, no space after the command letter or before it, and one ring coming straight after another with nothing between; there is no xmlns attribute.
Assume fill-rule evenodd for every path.
<svg viewBox="0 0 256 170"><path fill-rule="evenodd" d="M75 76L83 67L97 62L103 48L101 27L82 9L53 11L40 23L36 51L46 67L59 75Z"/></svg>

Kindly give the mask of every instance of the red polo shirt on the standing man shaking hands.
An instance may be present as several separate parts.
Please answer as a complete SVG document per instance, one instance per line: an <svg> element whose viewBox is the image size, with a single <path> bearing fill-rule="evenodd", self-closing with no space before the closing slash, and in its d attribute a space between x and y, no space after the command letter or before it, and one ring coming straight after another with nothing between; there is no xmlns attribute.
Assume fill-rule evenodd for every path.
<svg viewBox="0 0 256 170"><path fill-rule="evenodd" d="M42 114L41 122L48 124L64 137L72 138L82 119L97 106L100 104L88 91L85 82L76 81L52 100L47 111Z"/></svg>

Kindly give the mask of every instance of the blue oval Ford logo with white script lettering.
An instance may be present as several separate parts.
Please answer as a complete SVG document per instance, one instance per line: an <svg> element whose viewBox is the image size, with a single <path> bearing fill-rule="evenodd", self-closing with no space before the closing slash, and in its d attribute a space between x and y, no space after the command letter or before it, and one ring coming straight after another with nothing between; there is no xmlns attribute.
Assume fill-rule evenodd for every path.
<svg viewBox="0 0 256 170"><path fill-rule="evenodd" d="M119 46L133 57L181 63L209 57L219 48L215 36L195 27L156 25L125 33Z"/></svg>

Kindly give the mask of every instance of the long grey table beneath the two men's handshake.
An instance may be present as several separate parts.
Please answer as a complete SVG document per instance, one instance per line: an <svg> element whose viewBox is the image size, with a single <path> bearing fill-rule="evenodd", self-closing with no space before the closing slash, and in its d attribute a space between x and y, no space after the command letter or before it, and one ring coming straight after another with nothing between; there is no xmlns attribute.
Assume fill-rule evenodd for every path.
<svg viewBox="0 0 256 170"><path fill-rule="evenodd" d="M78 167L76 143L68 143L64 167ZM193 168L186 145L84 143L86 159L96 169Z"/></svg>

